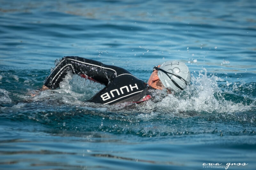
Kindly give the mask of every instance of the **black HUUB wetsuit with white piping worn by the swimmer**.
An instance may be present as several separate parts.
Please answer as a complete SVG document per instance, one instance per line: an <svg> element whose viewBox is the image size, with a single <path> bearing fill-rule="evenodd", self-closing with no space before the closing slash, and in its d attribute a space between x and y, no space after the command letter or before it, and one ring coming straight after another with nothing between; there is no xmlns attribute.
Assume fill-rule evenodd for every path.
<svg viewBox="0 0 256 170"><path fill-rule="evenodd" d="M111 105L121 102L140 103L151 98L148 89L153 88L128 70L77 56L63 57L46 78L44 85L50 89L59 87L68 72L106 85L89 102Z"/></svg>

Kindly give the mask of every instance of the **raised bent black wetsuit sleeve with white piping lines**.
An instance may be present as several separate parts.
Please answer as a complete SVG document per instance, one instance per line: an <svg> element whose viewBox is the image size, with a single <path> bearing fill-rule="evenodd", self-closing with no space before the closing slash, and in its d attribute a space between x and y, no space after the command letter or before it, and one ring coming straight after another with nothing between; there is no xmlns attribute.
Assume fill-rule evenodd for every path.
<svg viewBox="0 0 256 170"><path fill-rule="evenodd" d="M106 65L95 60L77 56L66 56L63 57L60 63L52 70L50 75L46 78L44 85L51 89L59 87L60 82L65 78L68 72L92 79L106 86L118 73L129 73L129 71L120 67Z"/></svg>

